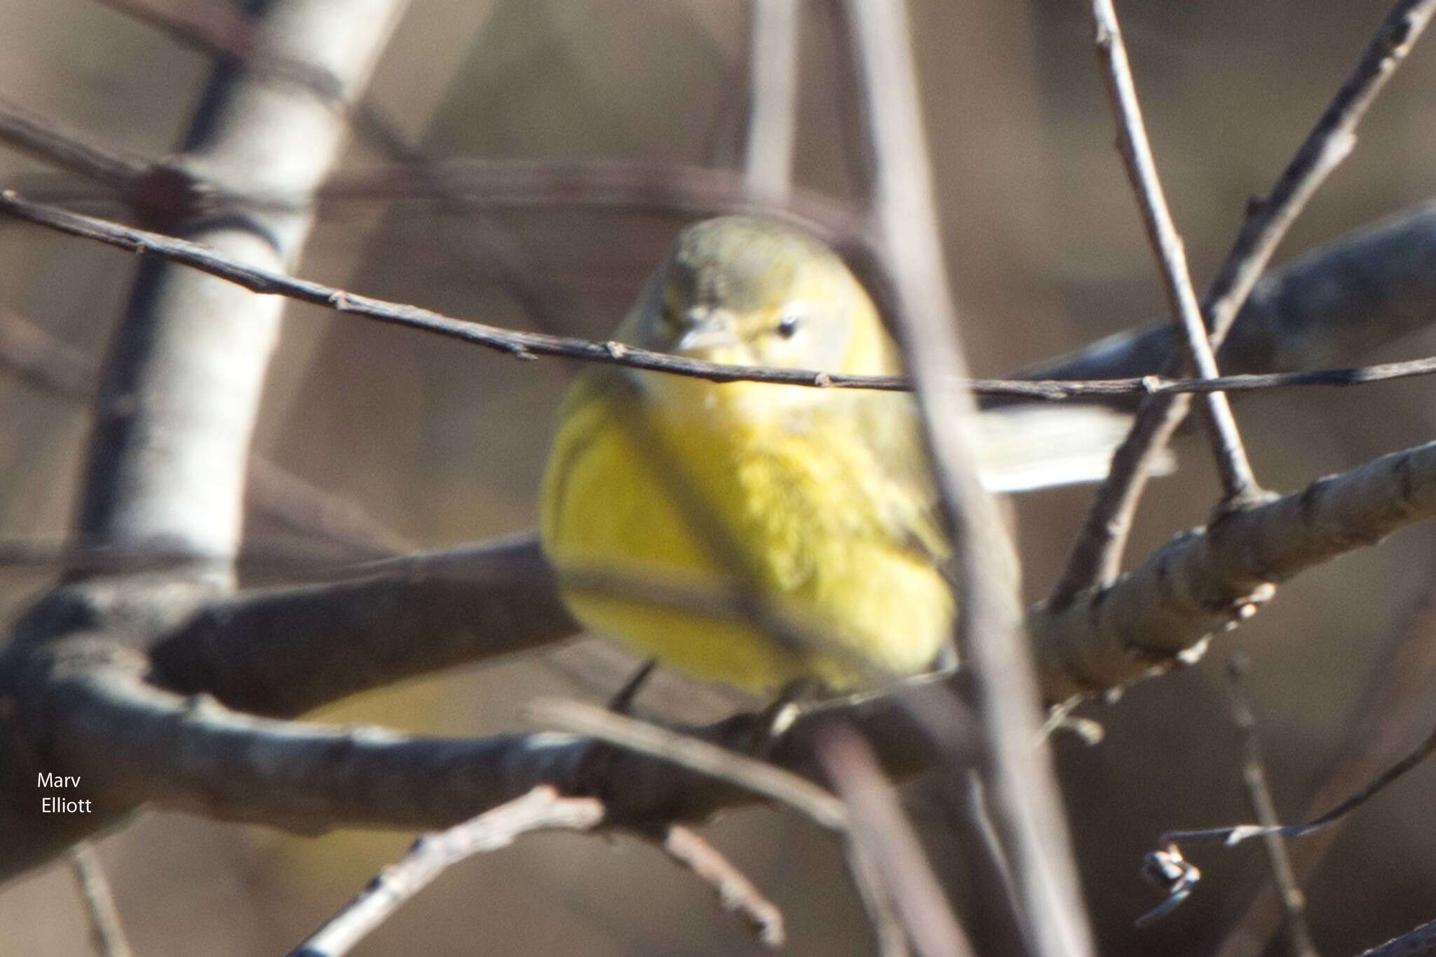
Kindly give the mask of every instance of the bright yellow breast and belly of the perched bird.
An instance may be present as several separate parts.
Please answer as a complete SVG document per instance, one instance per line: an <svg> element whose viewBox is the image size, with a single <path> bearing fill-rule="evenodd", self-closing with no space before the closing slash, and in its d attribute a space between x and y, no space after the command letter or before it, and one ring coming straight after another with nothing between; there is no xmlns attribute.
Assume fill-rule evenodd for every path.
<svg viewBox="0 0 1436 957"><path fill-rule="evenodd" d="M655 418L662 458L682 463L681 476L665 476L623 425L633 405L592 396L574 409L544 481L544 550L569 577L564 600L584 627L750 690L797 679L852 689L932 663L951 631L951 591L931 561L883 528L870 501L880 492L857 478L872 473L856 461L866 448L823 430L760 436ZM691 517L692 501L675 501L669 478L688 484L707 521ZM748 585L804 621L816 647L781 644L712 608L735 581L732 562L719 558L725 545L705 544L698 531L714 527L740 550ZM605 584L630 597L600 595Z"/></svg>

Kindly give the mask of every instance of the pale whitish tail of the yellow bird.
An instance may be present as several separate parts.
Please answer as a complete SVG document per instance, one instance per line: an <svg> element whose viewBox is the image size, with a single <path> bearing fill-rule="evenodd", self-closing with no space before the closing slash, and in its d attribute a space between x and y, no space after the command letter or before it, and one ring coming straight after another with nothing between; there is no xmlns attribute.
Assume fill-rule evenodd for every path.
<svg viewBox="0 0 1436 957"><path fill-rule="evenodd" d="M1090 405L988 409L978 416L978 473L994 492L1099 482L1130 426L1130 415ZM1165 452L1156 473L1165 475L1175 465Z"/></svg>

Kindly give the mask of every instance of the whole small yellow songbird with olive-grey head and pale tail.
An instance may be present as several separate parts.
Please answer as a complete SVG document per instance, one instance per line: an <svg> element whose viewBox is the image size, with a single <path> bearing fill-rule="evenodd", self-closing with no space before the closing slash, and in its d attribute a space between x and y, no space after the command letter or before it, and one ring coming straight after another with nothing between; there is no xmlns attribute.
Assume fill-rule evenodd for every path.
<svg viewBox="0 0 1436 957"><path fill-rule="evenodd" d="M903 372L833 250L745 217L684 230L615 339L722 364ZM979 475L997 491L1091 481L1120 419L1083 406L984 413ZM590 367L560 410L541 492L563 598L590 631L745 690L920 673L955 608L918 425L900 392ZM695 598L655 601L622 583ZM698 600L715 590L747 590L817 640L780 640Z"/></svg>

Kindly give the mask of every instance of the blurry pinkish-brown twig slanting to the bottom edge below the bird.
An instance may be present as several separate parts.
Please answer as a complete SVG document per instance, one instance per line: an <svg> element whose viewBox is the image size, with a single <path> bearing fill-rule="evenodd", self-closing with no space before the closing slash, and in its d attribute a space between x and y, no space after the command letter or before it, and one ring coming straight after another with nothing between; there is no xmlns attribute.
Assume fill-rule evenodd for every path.
<svg viewBox="0 0 1436 957"><path fill-rule="evenodd" d="M918 953L972 954L972 943L867 743L846 725L833 722L819 736L817 755L847 806L852 841L876 865Z"/></svg>

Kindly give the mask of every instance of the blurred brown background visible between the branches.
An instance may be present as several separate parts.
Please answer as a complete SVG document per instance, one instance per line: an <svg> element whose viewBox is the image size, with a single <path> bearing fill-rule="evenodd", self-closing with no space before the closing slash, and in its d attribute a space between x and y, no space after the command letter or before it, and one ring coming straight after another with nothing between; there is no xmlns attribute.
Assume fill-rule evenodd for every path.
<svg viewBox="0 0 1436 957"><path fill-rule="evenodd" d="M194 0L204 6L210 0ZM370 100L435 156L615 158L732 166L741 156L741 0L425 0L411 7ZM976 374L1001 374L1157 319L1163 294L1126 178L1083 4L910 0L923 106L955 293ZM1123 3L1137 89L1198 286L1225 254L1251 194L1265 191L1346 76L1387 4L1301 0ZM1367 118L1353 158L1302 215L1278 258L1436 194L1436 40L1416 47ZM847 195L841 121L823 4L804 11L801 185ZM171 151L208 62L162 33L83 0L0 4L0 95L146 156ZM356 142L353 168L383 158ZM65 181L0 154L0 187ZM111 207L109 214L122 209ZM546 207L501 222L564 329L605 336L682 224L630 211ZM472 225L425 202L326 207L300 274L498 326L530 319L475 260ZM0 225L0 306L93 362L134 268L129 257L14 222ZM1433 310L1436 317L1436 310ZM550 420L574 369L517 363L458 343L292 306L271 369L257 452L356 501L414 545L448 545L536 522ZM1436 334L1366 362L1436 353ZM1310 479L1432 438L1427 380L1285 392L1239 403L1262 482ZM0 535L63 538L88 410L0 373ZM1156 484L1132 555L1200 524L1216 501L1192 439ZM1032 598L1051 585L1090 491L1022 498L1015 515ZM251 522L254 541L287 541ZM1261 848L1192 848L1206 880L1157 925L1132 921L1157 895L1137 874L1169 828L1245 821L1223 664L1251 656L1268 772L1285 819L1301 818L1328 762L1387 696L1420 674L1436 628L1416 610L1436 587L1436 529L1310 572L1199 667L1084 713L1096 748L1057 740L1084 890L1103 954L1211 954L1254 888ZM0 583L7 616L43 577ZM1423 627L1426 628L1423 631ZM1406 657L1402 657L1406 656ZM595 661L606 663L596 667ZM520 727L528 697L603 700L617 653L528 657L346 702L319 717L481 735ZM1416 663L1413 663L1416 661ZM675 679L676 680L676 679ZM694 696L688 707L707 706ZM696 702L696 703L695 703ZM649 703L663 706L662 696ZM721 707L721 702L712 704ZM692 715L685 713L684 717ZM1409 745L1436 703L1403 716ZM1364 808L1305 884L1324 953L1354 953L1436 917L1436 768ZM982 937L948 795L906 791L939 871ZM841 852L774 811L704 831L783 908L794 954L873 944ZM99 842L136 954L273 954L294 946L412 835L300 839L264 828L145 814ZM3 835L0 835L3 839ZM0 956L85 953L63 867L0 888ZM528 836L475 858L405 907L356 953L734 954L757 951L709 892L635 841ZM1259 953L1248 941L1229 953ZM1277 944L1271 953L1287 953Z"/></svg>

